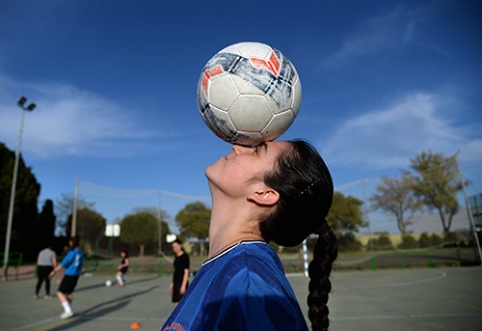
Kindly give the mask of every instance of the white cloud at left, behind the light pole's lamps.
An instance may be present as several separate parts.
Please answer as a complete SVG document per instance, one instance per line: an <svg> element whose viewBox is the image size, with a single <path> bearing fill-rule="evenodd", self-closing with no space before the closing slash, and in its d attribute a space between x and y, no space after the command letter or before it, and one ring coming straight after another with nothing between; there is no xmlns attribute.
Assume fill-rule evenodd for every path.
<svg viewBox="0 0 482 331"><path fill-rule="evenodd" d="M0 93L17 89L2 79ZM37 108L25 115L22 151L38 157L59 155L132 155L144 138L157 135L141 130L135 114L122 106L68 85L22 87ZM21 112L16 97L0 101L0 141L16 147Z"/></svg>

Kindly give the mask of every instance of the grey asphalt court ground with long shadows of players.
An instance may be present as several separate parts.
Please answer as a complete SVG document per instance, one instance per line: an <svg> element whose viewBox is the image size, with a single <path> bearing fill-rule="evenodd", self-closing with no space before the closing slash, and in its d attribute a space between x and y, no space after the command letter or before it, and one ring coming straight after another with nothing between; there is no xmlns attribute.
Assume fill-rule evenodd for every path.
<svg viewBox="0 0 482 331"><path fill-rule="evenodd" d="M336 271L330 296L331 331L482 330L482 267ZM52 282L55 292L56 277ZM0 283L0 330L160 330L174 308L168 276L83 276L74 292L75 315L60 320L57 298L33 300L35 279ZM306 311L308 279L288 275Z"/></svg>

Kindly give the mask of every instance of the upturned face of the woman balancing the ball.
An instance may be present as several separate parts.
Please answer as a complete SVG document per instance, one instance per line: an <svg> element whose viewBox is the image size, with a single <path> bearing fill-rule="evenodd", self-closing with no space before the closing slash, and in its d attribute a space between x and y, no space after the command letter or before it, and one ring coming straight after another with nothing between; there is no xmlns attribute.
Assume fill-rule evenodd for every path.
<svg viewBox="0 0 482 331"><path fill-rule="evenodd" d="M210 184L225 194L245 194L242 189L251 183L264 183L265 173L273 170L278 155L289 143L267 142L257 147L233 145L232 153L221 157L206 169Z"/></svg>

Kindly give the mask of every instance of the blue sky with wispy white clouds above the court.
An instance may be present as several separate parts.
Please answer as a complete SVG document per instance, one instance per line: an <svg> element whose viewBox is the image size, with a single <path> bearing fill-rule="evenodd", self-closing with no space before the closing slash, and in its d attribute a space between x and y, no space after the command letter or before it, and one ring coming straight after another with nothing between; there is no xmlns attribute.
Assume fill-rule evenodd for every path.
<svg viewBox="0 0 482 331"><path fill-rule="evenodd" d="M460 151L473 195L482 192L481 16L475 0L4 0L0 141L16 149L25 95L37 108L21 151L40 205L73 194L79 178L109 222L159 204L173 219L186 203L209 203L204 169L230 150L198 113L201 69L225 46L259 41L302 82L300 112L280 139L314 144L344 194L368 197L380 177L432 150ZM393 229L387 222L374 217L371 231Z"/></svg>

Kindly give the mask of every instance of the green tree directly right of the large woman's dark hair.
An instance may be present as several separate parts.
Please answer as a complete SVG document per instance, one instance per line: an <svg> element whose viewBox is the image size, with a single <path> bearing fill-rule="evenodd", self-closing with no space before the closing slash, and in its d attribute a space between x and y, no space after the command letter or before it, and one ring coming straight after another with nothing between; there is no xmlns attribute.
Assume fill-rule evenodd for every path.
<svg viewBox="0 0 482 331"><path fill-rule="evenodd" d="M344 235L356 233L361 227L368 226L368 223L363 220L362 204L363 201L360 199L335 192L330 212L326 218L333 231Z"/></svg>

